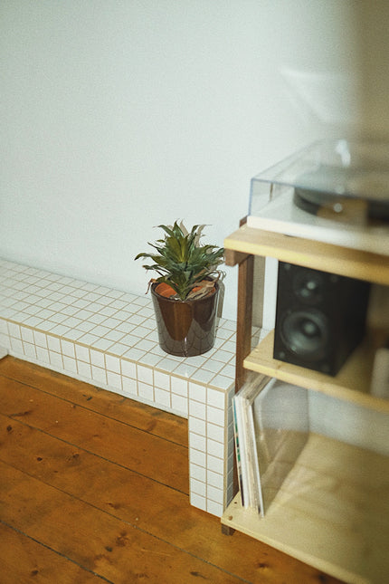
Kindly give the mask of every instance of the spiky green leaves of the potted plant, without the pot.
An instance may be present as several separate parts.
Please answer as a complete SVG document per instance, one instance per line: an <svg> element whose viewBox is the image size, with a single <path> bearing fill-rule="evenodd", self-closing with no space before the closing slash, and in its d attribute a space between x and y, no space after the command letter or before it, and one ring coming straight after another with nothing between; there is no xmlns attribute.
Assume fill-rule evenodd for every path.
<svg viewBox="0 0 389 584"><path fill-rule="evenodd" d="M214 280L221 275L217 267L224 260L223 248L200 244L201 225L194 225L190 233L186 233L185 226L177 222L173 227L158 227L165 231L165 237L155 244L148 243L155 252L138 254L135 258L147 258L153 262L143 265L146 270L159 274L151 282L165 282L180 300L207 294L213 288Z"/></svg>

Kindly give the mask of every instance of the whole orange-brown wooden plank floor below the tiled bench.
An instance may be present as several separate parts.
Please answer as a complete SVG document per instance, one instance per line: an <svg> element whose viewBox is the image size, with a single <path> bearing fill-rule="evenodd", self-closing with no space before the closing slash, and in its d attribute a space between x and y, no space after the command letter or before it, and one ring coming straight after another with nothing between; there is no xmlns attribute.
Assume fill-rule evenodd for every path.
<svg viewBox="0 0 389 584"><path fill-rule="evenodd" d="M327 577L189 504L185 419L0 360L1 584Z"/></svg>

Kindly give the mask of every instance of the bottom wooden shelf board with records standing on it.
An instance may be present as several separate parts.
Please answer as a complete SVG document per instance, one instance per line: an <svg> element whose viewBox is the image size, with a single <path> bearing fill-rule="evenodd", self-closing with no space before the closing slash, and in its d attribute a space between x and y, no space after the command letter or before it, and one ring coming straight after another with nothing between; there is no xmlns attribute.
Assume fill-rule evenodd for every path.
<svg viewBox="0 0 389 584"><path fill-rule="evenodd" d="M338 579L382 584L388 487L386 456L311 434L265 517L243 509L238 493L222 523Z"/></svg>

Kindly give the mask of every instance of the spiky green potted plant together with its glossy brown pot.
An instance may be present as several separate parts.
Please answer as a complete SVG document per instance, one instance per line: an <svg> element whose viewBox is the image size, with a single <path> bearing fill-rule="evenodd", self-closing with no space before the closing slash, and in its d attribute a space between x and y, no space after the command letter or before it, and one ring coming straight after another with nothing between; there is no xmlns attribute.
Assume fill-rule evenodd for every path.
<svg viewBox="0 0 389 584"><path fill-rule="evenodd" d="M219 296L217 269L223 263L223 248L200 244L202 227L188 233L184 225L158 225L165 236L150 244L154 252L146 270L157 272L149 282L157 319L159 344L171 355L192 357L212 349Z"/></svg>

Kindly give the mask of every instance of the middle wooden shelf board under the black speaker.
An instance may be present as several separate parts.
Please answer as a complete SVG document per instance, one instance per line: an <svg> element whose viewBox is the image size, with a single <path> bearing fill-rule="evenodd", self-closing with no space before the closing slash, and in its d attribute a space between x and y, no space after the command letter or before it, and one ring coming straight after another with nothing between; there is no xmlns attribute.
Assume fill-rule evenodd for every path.
<svg viewBox="0 0 389 584"><path fill-rule="evenodd" d="M369 393L374 353L369 349L367 341L356 348L336 377L273 359L273 342L272 330L244 359L244 368L301 388L314 389L345 399L362 407L389 413L389 400Z"/></svg>

